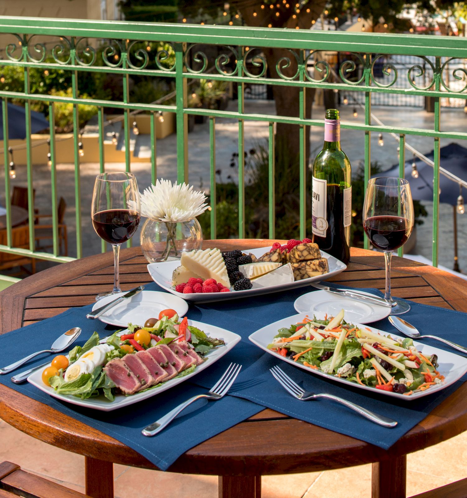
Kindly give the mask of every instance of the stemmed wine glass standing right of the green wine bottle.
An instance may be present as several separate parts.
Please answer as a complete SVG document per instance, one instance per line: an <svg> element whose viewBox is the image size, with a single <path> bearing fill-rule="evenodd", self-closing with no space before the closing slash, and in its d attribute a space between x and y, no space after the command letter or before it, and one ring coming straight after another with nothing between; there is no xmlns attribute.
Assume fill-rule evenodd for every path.
<svg viewBox="0 0 467 498"><path fill-rule="evenodd" d="M371 178L363 201L363 229L373 246L384 251L386 262L386 288L384 299L396 306L391 315L410 310L410 304L391 297L391 255L403 246L414 226L414 207L410 185L403 178Z"/></svg>

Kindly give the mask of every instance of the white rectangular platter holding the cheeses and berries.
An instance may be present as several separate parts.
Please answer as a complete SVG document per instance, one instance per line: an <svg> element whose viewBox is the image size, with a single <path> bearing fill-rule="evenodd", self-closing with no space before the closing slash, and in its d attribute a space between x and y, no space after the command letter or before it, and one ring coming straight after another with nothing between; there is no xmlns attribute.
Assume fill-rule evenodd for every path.
<svg viewBox="0 0 467 498"><path fill-rule="evenodd" d="M267 252L271 247L265 248L257 248L257 249L245 249L243 252L254 254L256 257L262 256L265 252ZM238 299L240 297L249 297L249 296L259 296L261 294L269 294L271 292L279 292L287 289L293 289L295 287L304 287L305 285L309 285L311 282L319 282L321 280L326 280L341 271L344 271L347 268L342 261L335 258L334 256L329 255L327 252L321 251L323 257L327 258L329 265L329 273L325 273L324 275L318 275L316 277L305 278L303 280L297 280L296 282L290 283L282 283L279 285L272 285L270 287L261 287L261 288L253 288L248 290L238 290L231 292L213 292L206 294L183 294L182 292L176 292L172 287L172 273L177 266L180 266L180 261L166 261L163 263L149 263L147 265L147 270L151 275L151 278L156 282L157 285L160 285L163 289L172 292L176 296L181 297L187 301L198 302L198 303L206 303L210 301L224 301L227 299Z"/></svg>

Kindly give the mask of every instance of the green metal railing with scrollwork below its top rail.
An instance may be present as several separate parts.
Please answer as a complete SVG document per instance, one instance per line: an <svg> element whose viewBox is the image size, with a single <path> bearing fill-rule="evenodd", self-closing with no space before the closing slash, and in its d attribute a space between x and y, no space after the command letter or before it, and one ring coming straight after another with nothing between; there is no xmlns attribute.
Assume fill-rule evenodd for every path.
<svg viewBox="0 0 467 498"><path fill-rule="evenodd" d="M2 119L4 129L4 187L6 204L6 234L7 243L0 245L0 251L22 254L35 258L68 261L71 258L59 255L58 223L53 218L54 246L51 253L39 252L34 247L34 203L33 203L33 166L31 160L30 139L30 104L32 101L46 102L49 106L50 120L54 119L54 104L57 102L73 105L74 124L74 162L75 162L75 202L76 202L76 254L82 255L82 229L80 205L80 154L79 154L79 115L78 104L90 104L99 109L99 143L100 171L105 169L103 153L104 112L105 108L117 108L123 112L124 140L129 144L130 114L137 111L152 113L151 120L151 170L152 179L157 176L157 157L155 155L155 117L160 111L176 114L177 125L177 178L184 181L188 178L189 158L187 141L188 115L206 116L209 119L209 136L211 145L210 175L211 196L215 198L216 191L216 149L215 131L217 118L233 118L238 121L238 235L245 234L245 161L244 161L244 122L247 120L265 122L269 126L269 237L275 236L275 184L274 184L274 124L295 124L300 133L300 173L297 181L300 185L300 236L305 237L306 206L305 180L309 159L306 157L306 125L324 126L324 121L306 119L306 89L332 89L340 92L359 92L364 96L364 124L342 122L342 128L360 130L364 133L364 168L365 184L370 174L370 136L372 132L393 133L399 138L399 171L404 175L405 139L407 135L423 135L433 138L434 143L434 184L433 184L433 264L438 263L438 219L439 219L439 178L440 178L440 139L467 139L465 131L443 131L441 128L440 99L467 97L467 71L457 66L452 71L456 81L463 82L463 88L453 90L449 85L449 63L463 60L467 57L467 39L448 36L420 36L404 34L373 34L347 33L334 31L289 30L271 28L250 28L236 26L209 26L188 24L154 24L121 21L91 21L82 19L46 19L27 17L0 17L1 34L13 37L13 42L7 43L0 60L0 71L3 66L21 67L24 74L24 91L9 92L1 89ZM54 43L44 44L40 37L53 37ZM90 43L89 39L96 40ZM36 42L36 40L38 40ZM156 54L148 54L140 47L141 42L164 42ZM138 45L139 44L139 45ZM167 49L170 47L170 50ZM203 52L203 46L216 45L221 47L221 54L215 60ZM102 57L96 56L96 46L101 46ZM267 77L267 63L262 55L264 48L282 48L285 54L276 61L277 77ZM342 52L352 54L338 71L335 71L325 57L324 52ZM406 84L398 85L397 69L389 62L384 62L385 55L410 55L417 57L420 63L413 64L407 71ZM47 60L46 60L47 58ZM150 60L150 58L152 58ZM247 64L249 61L249 64ZM313 61L313 69L309 63ZM379 62L378 62L379 61ZM383 73L386 81L381 83L374 76L376 64L383 61ZM149 62L155 65L149 65ZM251 70L251 64L256 68ZM284 68L296 66L294 75L284 73ZM71 97L31 93L29 71L31 68L61 69L71 74ZM78 74L81 72L106 72L120 75L123 82L123 98L121 101L83 99L80 91L86 88L78 87ZM337 75L338 73L338 75ZM350 79L350 74L357 77ZM163 103L142 104L130 102L128 78L130 75L145 75L152 77L173 78L175 81L176 98L174 105ZM387 82L387 77L391 81ZM236 112L212 109L190 108L187 102L187 85L191 80L222 80L236 85L238 107ZM424 81L424 83L418 83ZM266 114L246 114L244 112L245 84L267 83L299 88L299 116L276 116ZM406 82L405 82L406 83ZM464 85L465 83L465 85ZM382 125L372 123L372 94L404 94L421 97L431 97L434 100L433 129L409 128L400 125ZM9 201L9 159L5 151L8 148L7 133L7 102L9 99L22 99L26 110L26 157L27 186L29 210L29 249L18 249L12 245L11 237L11 207ZM57 171L55 141L56 137L51 127L51 185L52 211L57 211ZM130 148L125 147L126 170L130 170ZM211 237L216 238L216 206L213 203L211 211ZM367 241L365 240L365 244ZM105 248L103 247L103 250Z"/></svg>

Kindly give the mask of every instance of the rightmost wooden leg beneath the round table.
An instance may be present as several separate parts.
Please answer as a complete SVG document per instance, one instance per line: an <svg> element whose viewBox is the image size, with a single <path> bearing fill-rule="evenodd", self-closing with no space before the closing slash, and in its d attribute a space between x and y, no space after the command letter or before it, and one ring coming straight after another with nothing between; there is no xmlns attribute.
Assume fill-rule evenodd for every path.
<svg viewBox="0 0 467 498"><path fill-rule="evenodd" d="M371 468L371 498L405 498L407 457L376 462Z"/></svg>

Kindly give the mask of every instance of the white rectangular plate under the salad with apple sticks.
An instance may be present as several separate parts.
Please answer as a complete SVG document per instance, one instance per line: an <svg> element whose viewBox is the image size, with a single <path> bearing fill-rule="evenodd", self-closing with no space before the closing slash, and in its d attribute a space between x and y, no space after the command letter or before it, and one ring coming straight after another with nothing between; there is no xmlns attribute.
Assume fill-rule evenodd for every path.
<svg viewBox="0 0 467 498"><path fill-rule="evenodd" d="M272 343L272 339L274 338L274 336L277 335L279 329L281 329L282 327L289 328L292 324L301 322L305 318L305 316L306 316L305 313L300 313L298 315L292 315L289 316L288 318L284 318L283 320L278 320L277 322L271 323L270 325L266 325L266 327L263 327L262 329L253 332L248 339L262 350L266 351L271 355L274 355L274 357L277 360L282 360L284 362L290 363L291 365L301 368L308 373L313 373L314 375L319 375L321 377L325 377L328 380L334 380L336 382L340 382L347 386L352 385L353 387L358 387L359 389L364 389L365 391L369 391L372 393L377 392L378 394L397 397L398 399L404 399L407 401L427 396L428 394L432 394L433 392L439 392L445 387L454 384L454 382L459 380L465 373L467 373L467 358L456 355L454 353L450 353L448 351L444 351L442 349L433 348L432 346L427 346L426 344L423 344L421 342L414 341L414 346L417 348L417 351L420 351L425 356L428 357L431 355L438 355L438 364L439 364L438 371L445 376L445 380L441 384L432 385L426 391L418 391L414 392L410 396L404 396L403 394L398 394L396 392L383 391L382 389L375 389L374 387L360 385L357 382L350 382L348 380L345 380L344 378L335 377L334 375L321 372L321 370L310 369L308 367L305 367L301 363L294 362L289 358L280 356L274 351L267 349L267 345ZM357 327L361 328L368 327L367 325L359 325L357 323L353 325L356 325ZM383 332L382 330L375 329L373 327L368 327L368 329L376 334L379 333L379 334L389 335L389 332ZM392 332L390 333L390 336L400 337L393 334ZM406 339L406 337L401 337L401 339Z"/></svg>

